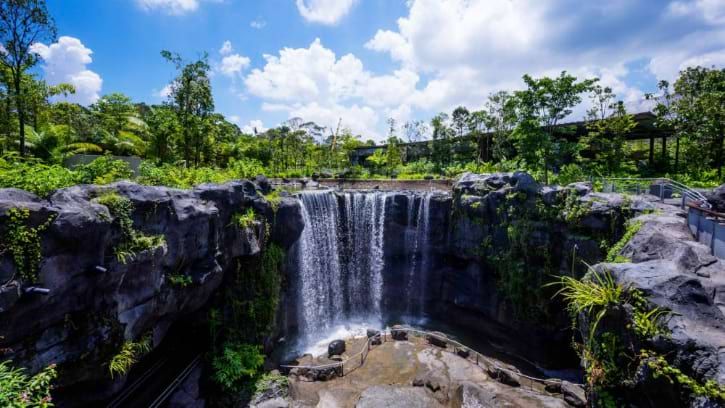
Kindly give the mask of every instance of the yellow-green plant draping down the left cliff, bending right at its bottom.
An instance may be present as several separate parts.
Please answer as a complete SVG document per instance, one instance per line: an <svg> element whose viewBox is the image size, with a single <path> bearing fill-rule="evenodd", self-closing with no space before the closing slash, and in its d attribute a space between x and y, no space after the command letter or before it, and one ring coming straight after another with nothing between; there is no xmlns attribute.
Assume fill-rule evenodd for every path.
<svg viewBox="0 0 725 408"><path fill-rule="evenodd" d="M116 257L121 263L126 263L139 252L157 248L164 244L163 235L145 235L133 227L131 213L133 203L118 193L106 193L96 198L96 202L108 208L113 217L113 223L121 230L121 242L114 248Z"/></svg>

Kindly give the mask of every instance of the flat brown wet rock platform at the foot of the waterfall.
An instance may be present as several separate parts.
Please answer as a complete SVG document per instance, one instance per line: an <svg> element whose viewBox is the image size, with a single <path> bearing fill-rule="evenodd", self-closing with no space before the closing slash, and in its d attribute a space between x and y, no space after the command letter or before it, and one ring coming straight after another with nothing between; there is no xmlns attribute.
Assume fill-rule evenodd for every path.
<svg viewBox="0 0 725 408"><path fill-rule="evenodd" d="M544 384L510 386L486 367L505 364L463 358L429 345L424 337L374 347L365 363L324 382L290 377L291 407L569 407L566 394ZM352 367L351 367L352 368ZM514 371L508 366L506 370ZM576 392L581 394L577 390Z"/></svg>

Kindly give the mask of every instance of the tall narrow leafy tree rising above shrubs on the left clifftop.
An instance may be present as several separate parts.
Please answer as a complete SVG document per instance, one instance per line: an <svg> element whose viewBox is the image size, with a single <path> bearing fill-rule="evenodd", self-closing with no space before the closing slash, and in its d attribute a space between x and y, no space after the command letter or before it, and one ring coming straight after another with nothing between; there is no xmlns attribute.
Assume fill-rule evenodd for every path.
<svg viewBox="0 0 725 408"><path fill-rule="evenodd" d="M169 102L182 128L181 146L186 165L193 163L198 166L204 149L204 119L214 111L208 56L204 54L197 61L189 63L170 51L161 51L161 56L173 63L179 71L171 82Z"/></svg>

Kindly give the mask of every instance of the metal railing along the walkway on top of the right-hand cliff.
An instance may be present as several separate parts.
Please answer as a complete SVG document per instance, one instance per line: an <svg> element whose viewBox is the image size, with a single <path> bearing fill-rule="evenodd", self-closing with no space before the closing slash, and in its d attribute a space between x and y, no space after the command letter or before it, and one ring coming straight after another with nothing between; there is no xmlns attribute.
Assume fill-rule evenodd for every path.
<svg viewBox="0 0 725 408"><path fill-rule="evenodd" d="M704 194L668 178L602 178L601 182L605 193L649 194L658 197L661 202L681 198L680 206L683 209L690 203L710 208Z"/></svg>

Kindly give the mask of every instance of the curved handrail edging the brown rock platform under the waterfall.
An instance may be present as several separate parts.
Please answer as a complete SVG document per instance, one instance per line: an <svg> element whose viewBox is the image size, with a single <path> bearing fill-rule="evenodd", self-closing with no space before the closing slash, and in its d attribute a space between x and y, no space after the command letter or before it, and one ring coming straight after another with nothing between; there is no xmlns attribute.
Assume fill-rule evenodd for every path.
<svg viewBox="0 0 725 408"><path fill-rule="evenodd" d="M510 370L510 369L508 369L506 367L500 366L499 364L496 363L495 360L493 360L493 359L491 359L491 358L489 358L489 357L487 357L487 356L479 353L478 351L472 349L471 347L468 347L465 344L459 343L458 341L453 340L453 339L451 339L451 338L449 338L447 336L441 336L441 335L438 335L436 333L432 333L432 332L428 332L428 331L424 331L424 330L412 329L412 328L399 328L399 329L383 330L380 333L378 333L376 336L373 336L373 337L368 338L366 340L366 342L365 342L365 345L361 348L361 350L359 352L357 352L357 353L349 356L347 359L345 359L343 361L340 361L340 362L337 362L337 363L321 364L321 365L316 365L316 366L312 366L312 365L304 365L304 366L302 366L302 365L280 365L280 368L285 368L285 369L300 368L300 369L303 369L303 370L322 370L322 369L325 369L325 368L339 367L339 368L344 369L345 363L347 363L348 361L351 361L353 358L356 358L358 355L362 355L365 352L366 349L367 350L370 350L371 349L370 348L370 339L372 339L372 338L378 338L378 337L383 337L383 339L384 339L383 341L388 341L387 340L388 336L392 336L392 333L393 332L419 333L419 334L421 334L423 336L435 337L438 340L441 340L441 341L443 341L443 342L445 342L447 344L453 345L454 348L465 349L469 353L472 353L472 354L474 354L476 356L476 365L477 366L481 367L479 364L480 364L480 362L483 363L483 367L481 367L481 368L484 368L484 369L486 369L486 365L490 364L496 370L504 371L504 372L507 372L509 374L514 374L514 375L516 375L518 377L523 377L523 378L526 378L526 379L528 379L530 381L536 381L536 382L543 383L543 384L547 384L547 383L561 384L562 381L563 381L563 380L561 380L559 378L537 378L537 377L532 377L532 376L523 374L523 373L521 373L519 371ZM466 359L468 360L467 357L466 357ZM481 361L481 359L483 359L483 361ZM362 364L364 364L364 358L361 359L360 366L362 366ZM574 384L574 385L583 386L584 384Z"/></svg>

